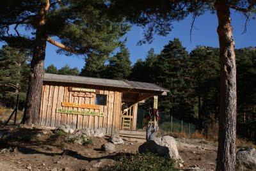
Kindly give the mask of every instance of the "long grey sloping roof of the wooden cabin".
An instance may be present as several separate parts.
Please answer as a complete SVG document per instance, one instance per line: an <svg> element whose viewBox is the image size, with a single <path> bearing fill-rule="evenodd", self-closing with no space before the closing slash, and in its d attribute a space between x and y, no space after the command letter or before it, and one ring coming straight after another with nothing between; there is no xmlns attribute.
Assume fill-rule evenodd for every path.
<svg viewBox="0 0 256 171"><path fill-rule="evenodd" d="M112 79L106 79L106 78L81 77L81 76L72 76L72 75L57 75L52 73L45 73L44 81L45 82L67 82L67 83L77 83L77 84L100 85L100 86L116 87L116 88L124 88L124 89L169 92L168 89L165 89L156 84L147 83L147 82L135 82L135 81L129 81L129 80L112 80Z"/></svg>

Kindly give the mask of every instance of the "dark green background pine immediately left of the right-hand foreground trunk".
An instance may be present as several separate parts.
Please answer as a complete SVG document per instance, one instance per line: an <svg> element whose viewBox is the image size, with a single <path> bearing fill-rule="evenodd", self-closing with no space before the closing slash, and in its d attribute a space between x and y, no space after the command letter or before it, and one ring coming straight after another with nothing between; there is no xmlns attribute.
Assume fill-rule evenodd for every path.
<svg viewBox="0 0 256 171"><path fill-rule="evenodd" d="M198 127L209 125L212 115L219 113L220 63L217 48L198 46L189 54L189 78L193 95L197 100ZM205 128L207 130L207 128Z"/></svg>

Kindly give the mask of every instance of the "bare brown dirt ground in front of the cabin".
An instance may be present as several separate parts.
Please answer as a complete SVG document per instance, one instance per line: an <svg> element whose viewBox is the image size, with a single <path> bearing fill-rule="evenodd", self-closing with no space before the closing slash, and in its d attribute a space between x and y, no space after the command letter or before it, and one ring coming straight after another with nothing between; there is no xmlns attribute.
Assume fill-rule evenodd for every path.
<svg viewBox="0 0 256 171"><path fill-rule="evenodd" d="M0 144L0 170L101 170L113 165L117 156L136 153L142 142L124 141L116 145L116 152L100 151L108 137L93 138L92 145L67 144L63 137L52 131L1 127L0 133L13 137ZM20 135L26 135L20 138ZM19 137L19 138L17 138ZM36 138L35 138L36 137ZM184 160L180 169L200 167L214 170L216 167L216 144L205 140L177 139L179 154Z"/></svg>

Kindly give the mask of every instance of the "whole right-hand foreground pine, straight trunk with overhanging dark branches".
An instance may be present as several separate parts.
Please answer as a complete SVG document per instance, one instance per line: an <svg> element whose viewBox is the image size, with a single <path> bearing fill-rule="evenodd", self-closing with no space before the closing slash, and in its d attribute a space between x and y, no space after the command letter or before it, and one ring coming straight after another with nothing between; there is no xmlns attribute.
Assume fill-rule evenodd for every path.
<svg viewBox="0 0 256 171"><path fill-rule="evenodd" d="M192 15L191 31L196 17L211 11L218 18L220 43L220 118L217 170L235 170L236 167L236 56L230 10L245 16L245 26L255 17L255 0L112 0L113 14L145 28L145 41L152 41L153 33L167 35L173 20ZM253 16L254 15L254 16ZM242 23L241 23L242 24Z"/></svg>

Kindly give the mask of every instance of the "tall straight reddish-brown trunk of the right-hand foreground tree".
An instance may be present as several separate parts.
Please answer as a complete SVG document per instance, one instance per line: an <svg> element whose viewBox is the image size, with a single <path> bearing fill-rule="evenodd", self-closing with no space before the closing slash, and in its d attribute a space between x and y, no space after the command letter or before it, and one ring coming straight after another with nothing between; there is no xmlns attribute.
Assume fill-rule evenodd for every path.
<svg viewBox="0 0 256 171"><path fill-rule="evenodd" d="M227 0L214 4L220 42L220 117L216 170L236 170L236 56L230 8Z"/></svg>

